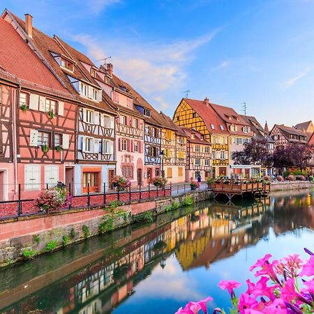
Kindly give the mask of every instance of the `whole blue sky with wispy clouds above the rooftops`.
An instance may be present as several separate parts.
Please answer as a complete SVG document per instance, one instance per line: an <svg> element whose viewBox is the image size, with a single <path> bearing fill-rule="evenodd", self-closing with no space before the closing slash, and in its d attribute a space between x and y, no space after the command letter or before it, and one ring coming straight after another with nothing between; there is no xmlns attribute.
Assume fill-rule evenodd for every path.
<svg viewBox="0 0 314 314"><path fill-rule="evenodd" d="M2 0L172 117L182 97L262 125L314 119L314 0Z"/></svg>

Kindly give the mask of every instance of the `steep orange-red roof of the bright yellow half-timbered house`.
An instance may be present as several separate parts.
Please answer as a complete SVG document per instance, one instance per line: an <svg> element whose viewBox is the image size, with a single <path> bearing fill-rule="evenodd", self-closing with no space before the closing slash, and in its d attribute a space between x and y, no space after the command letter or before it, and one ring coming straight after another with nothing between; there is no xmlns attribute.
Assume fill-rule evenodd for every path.
<svg viewBox="0 0 314 314"><path fill-rule="evenodd" d="M183 98L183 100L190 105L190 107L204 120L209 132L211 133L221 133L228 134L227 126L225 121L220 118L220 116L215 112L215 110L206 105L203 100L196 100L190 98ZM212 128L211 126L214 126ZM220 126L223 126L223 130L221 130Z"/></svg>

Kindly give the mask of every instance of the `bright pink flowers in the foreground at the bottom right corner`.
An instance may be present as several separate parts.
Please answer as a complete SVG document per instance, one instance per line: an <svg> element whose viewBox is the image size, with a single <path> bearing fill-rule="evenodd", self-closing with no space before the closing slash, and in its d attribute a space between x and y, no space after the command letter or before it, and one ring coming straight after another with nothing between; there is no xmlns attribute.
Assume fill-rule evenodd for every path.
<svg viewBox="0 0 314 314"><path fill-rule="evenodd" d="M230 294L232 308L230 314L310 314L314 313L314 255L309 260L301 260L298 254L288 255L282 260L270 262L271 255L266 254L251 266L255 277L260 279L253 283L246 281L248 289L237 298L234 289L241 283L237 281L220 281L218 286ZM176 314L207 314L207 301L211 297L193 302L179 308ZM202 312L200 312L202 310ZM215 308L214 314L226 312Z"/></svg>

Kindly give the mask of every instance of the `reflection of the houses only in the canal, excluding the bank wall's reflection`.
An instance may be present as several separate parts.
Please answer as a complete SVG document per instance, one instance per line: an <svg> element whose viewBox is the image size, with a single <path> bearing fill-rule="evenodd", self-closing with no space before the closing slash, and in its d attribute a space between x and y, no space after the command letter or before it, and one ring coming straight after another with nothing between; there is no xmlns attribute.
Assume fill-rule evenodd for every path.
<svg viewBox="0 0 314 314"><path fill-rule="evenodd" d="M211 263L256 244L267 236L269 227L281 234L313 226L312 195L268 197L241 206L211 204L141 234L1 313L111 313L154 268L165 267L172 254L184 271L209 268Z"/></svg>

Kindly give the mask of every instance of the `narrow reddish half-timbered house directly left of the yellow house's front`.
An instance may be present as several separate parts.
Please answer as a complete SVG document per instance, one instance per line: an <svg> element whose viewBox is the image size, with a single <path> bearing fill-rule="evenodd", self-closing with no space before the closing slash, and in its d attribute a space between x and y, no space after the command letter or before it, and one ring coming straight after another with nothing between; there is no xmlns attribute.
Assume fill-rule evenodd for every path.
<svg viewBox="0 0 314 314"><path fill-rule="evenodd" d="M186 133L186 181L209 179L211 176L210 147L204 135L191 128L181 128Z"/></svg>

